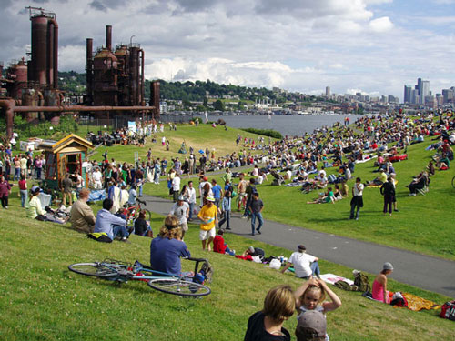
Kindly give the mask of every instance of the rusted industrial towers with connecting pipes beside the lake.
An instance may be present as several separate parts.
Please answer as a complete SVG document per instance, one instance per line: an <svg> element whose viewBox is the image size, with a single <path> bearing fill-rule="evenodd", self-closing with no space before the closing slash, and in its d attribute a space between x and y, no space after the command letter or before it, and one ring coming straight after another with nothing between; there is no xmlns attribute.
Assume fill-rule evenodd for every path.
<svg viewBox="0 0 455 341"><path fill-rule="evenodd" d="M10 65L6 77L0 63L0 109L5 113L6 135L13 135L15 113L31 122L37 119L58 124L62 113L89 112L115 116L120 113L152 112L159 118L159 83L146 106L144 92L145 54L140 45L118 45L112 51L112 26L106 26L106 47L93 54L93 39L86 39L87 106L64 105L58 90L58 24L56 14L43 8L26 7L32 24L31 60ZM111 117L112 117L111 116Z"/></svg>

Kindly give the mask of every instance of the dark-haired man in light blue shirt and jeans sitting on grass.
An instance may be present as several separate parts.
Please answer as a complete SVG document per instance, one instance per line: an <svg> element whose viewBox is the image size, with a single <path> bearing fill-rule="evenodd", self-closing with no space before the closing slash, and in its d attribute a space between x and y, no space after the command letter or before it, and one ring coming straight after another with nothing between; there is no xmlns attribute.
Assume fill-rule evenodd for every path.
<svg viewBox="0 0 455 341"><path fill-rule="evenodd" d="M103 209L100 209L96 214L94 232L105 232L112 240L119 236L120 240L126 241L129 236L128 231L126 231L126 220L109 212L113 205L114 202L111 199L103 201Z"/></svg>

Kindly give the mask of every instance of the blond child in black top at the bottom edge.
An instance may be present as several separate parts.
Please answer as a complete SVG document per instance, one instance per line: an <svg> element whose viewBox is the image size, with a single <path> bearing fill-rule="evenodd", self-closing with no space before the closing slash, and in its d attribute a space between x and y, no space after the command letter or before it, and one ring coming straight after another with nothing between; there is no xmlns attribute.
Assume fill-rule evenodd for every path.
<svg viewBox="0 0 455 341"><path fill-rule="evenodd" d="M290 286L276 286L268 291L264 308L248 318L245 341L290 341L283 327L284 321L294 315L295 298Z"/></svg>

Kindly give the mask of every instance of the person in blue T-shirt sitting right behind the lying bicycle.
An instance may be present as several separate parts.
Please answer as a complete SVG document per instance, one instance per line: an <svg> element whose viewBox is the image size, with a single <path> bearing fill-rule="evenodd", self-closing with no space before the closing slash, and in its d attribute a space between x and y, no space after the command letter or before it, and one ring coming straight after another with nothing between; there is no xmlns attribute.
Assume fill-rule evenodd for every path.
<svg viewBox="0 0 455 341"><path fill-rule="evenodd" d="M150 244L150 266L154 270L180 276L180 257L190 257L187 245L182 241L182 228L176 216L167 216L159 234Z"/></svg>

